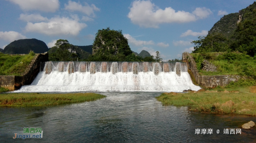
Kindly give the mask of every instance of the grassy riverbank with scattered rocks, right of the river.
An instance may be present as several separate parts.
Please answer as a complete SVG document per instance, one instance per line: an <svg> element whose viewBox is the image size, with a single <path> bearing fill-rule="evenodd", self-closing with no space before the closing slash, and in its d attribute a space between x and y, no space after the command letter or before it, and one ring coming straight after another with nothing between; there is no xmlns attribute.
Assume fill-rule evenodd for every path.
<svg viewBox="0 0 256 143"><path fill-rule="evenodd" d="M256 94L252 93L254 89L246 87L237 88L236 91L165 92L156 98L163 105L189 106L191 111L256 116Z"/></svg>

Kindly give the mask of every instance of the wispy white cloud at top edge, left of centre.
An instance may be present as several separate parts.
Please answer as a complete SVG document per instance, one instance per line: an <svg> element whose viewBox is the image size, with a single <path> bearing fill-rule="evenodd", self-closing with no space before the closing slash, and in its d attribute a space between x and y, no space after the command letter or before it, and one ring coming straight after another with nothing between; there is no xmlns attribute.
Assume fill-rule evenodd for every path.
<svg viewBox="0 0 256 143"><path fill-rule="evenodd" d="M89 5L85 3L85 6L83 6L80 3L76 3L75 1L69 0L68 4L65 4L65 10L79 11L85 13L88 16L94 17L94 11L99 11L100 9L97 8L94 4Z"/></svg>

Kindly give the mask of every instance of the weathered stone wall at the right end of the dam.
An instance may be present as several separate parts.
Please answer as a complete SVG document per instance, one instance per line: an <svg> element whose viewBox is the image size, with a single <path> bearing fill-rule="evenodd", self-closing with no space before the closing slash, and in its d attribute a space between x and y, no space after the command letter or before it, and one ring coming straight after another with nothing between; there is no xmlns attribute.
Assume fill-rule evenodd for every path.
<svg viewBox="0 0 256 143"><path fill-rule="evenodd" d="M196 82L203 87L214 88L217 86L225 86L231 81L236 82L241 78L240 76L231 75L200 76L196 68L196 62L193 56L188 52L182 53L182 61L187 62L188 69L190 69L193 73L191 76L193 76Z"/></svg>

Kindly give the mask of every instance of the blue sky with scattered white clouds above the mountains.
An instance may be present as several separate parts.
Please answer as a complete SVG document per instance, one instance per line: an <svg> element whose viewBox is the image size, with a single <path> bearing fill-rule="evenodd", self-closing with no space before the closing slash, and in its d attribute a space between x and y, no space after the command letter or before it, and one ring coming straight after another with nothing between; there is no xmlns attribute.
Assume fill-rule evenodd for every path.
<svg viewBox="0 0 256 143"><path fill-rule="evenodd" d="M224 15L253 0L1 0L0 48L35 38L91 45L99 29L122 30L132 51L143 49L163 61L181 59L192 40L206 36Z"/></svg>

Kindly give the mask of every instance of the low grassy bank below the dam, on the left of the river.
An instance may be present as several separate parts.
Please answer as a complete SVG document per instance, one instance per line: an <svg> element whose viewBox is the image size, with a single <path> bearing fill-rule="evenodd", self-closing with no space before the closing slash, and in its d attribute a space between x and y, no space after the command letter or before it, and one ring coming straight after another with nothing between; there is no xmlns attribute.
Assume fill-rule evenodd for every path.
<svg viewBox="0 0 256 143"><path fill-rule="evenodd" d="M95 93L76 94L38 94L11 93L0 94L0 106L48 106L65 103L93 101L106 96Z"/></svg>

